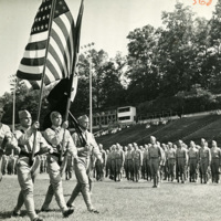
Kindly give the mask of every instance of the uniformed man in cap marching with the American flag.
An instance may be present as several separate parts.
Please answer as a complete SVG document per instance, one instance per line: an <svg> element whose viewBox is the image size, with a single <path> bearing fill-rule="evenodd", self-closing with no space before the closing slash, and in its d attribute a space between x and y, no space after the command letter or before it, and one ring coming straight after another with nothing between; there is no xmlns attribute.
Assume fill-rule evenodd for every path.
<svg viewBox="0 0 221 221"><path fill-rule="evenodd" d="M18 146L15 146L15 150L19 152L19 159L17 161L17 173L21 191L19 193L18 202L12 215L20 215L21 207L24 203L31 221L43 221L43 219L38 217L35 212L33 189L34 180L40 169L41 159L39 158L39 155L45 154L52 148L50 145L48 145L40 131L36 133L35 143L33 143L34 133L40 127L40 124L39 122L34 122L32 124L32 117L28 110L19 112L19 119L21 126L18 130L14 131L14 136L18 140ZM33 150L34 145L35 159L34 164L30 165L30 154Z"/></svg>

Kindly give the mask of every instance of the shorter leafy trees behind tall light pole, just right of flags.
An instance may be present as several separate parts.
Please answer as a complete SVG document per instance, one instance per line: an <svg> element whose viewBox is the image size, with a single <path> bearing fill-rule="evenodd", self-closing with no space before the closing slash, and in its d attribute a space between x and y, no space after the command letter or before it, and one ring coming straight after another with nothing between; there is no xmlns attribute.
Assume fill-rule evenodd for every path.
<svg viewBox="0 0 221 221"><path fill-rule="evenodd" d="M122 104L124 101L124 88L120 77L124 74L125 59L117 54L115 59L109 59L108 54L101 50L91 50L92 60L92 95L93 108L101 110L109 106ZM73 104L75 113L85 113L90 108L90 57L80 56L80 77L76 97Z"/></svg>

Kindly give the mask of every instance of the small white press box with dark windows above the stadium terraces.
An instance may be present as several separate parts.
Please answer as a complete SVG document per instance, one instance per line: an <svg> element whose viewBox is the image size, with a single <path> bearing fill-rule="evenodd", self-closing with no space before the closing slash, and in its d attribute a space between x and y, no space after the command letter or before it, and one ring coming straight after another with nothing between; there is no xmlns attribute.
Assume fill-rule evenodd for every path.
<svg viewBox="0 0 221 221"><path fill-rule="evenodd" d="M120 124L133 124L136 122L136 107L125 106L117 108L117 120Z"/></svg>

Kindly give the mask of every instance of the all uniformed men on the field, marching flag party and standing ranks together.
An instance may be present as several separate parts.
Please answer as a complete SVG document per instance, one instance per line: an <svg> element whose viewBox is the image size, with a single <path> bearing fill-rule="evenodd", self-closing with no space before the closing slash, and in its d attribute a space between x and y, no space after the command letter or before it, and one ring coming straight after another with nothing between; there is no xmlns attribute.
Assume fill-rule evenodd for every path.
<svg viewBox="0 0 221 221"><path fill-rule="evenodd" d="M0 107L0 120L3 116ZM49 188L41 211L50 211L50 203L55 200L64 218L74 212L74 200L82 192L87 210L98 213L92 204L91 193L93 178L103 181L109 178L120 181L138 182L140 179L154 182L159 187L162 180L185 183L220 182L221 149L217 141L208 145L201 139L201 145L182 140L160 144L150 136L149 144L138 146L136 143L122 146L115 144L103 148L96 143L92 133L87 130L90 122L86 115L77 122L81 134L69 131L69 123L62 122L59 112L50 115L52 126L39 131L40 124L32 124L32 116L28 110L19 112L20 127L11 133L9 126L0 123L0 180L2 175L17 175L21 190L12 215L19 217L24 204L32 221L42 221L34 208L34 180L39 172L46 172L50 178ZM65 202L62 179L72 178L75 172L76 186Z"/></svg>

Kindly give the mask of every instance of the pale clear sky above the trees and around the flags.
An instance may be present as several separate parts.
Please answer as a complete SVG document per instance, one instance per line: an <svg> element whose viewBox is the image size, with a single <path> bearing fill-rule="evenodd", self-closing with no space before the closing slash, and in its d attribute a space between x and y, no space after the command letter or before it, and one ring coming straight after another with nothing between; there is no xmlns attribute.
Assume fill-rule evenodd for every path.
<svg viewBox="0 0 221 221"><path fill-rule="evenodd" d="M161 25L161 12L172 11L177 0L84 0L81 45L95 42L110 57L127 54L129 31L147 24ZM210 19L218 0L180 0L199 17ZM209 0L206 0L208 2ZM0 0L0 96L10 91L9 77L18 70L41 0ZM81 0L66 0L76 20Z"/></svg>

